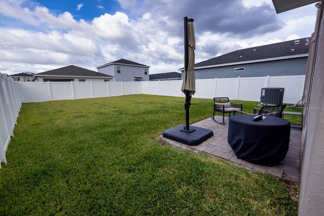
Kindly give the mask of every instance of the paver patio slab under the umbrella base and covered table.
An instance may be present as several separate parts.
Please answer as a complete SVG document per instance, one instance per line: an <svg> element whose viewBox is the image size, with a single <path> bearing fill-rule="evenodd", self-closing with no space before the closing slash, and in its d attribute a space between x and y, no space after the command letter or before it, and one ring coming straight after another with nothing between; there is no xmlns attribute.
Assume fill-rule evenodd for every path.
<svg viewBox="0 0 324 216"><path fill-rule="evenodd" d="M223 117L215 116L215 118L219 118L216 120L222 120L221 118ZM199 144L198 146L188 146L182 143L178 143L173 140L164 138L162 135L159 136L159 139L166 141L172 146L181 147L183 149L191 150L194 152L205 152L212 156L229 160L234 164L244 166L249 170L265 172L286 181L300 182L299 156L301 129L291 127L289 150L286 158L280 163L270 167L266 165L250 163L242 159L237 159L234 151L227 142L228 118L225 118L225 124L219 124L216 123L212 118L207 118L195 122L191 125L211 129L214 133L214 136Z"/></svg>

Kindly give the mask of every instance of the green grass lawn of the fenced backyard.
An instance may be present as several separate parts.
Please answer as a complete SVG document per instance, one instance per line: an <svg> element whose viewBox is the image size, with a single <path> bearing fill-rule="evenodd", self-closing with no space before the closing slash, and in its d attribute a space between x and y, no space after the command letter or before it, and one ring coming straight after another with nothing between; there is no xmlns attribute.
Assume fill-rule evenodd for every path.
<svg viewBox="0 0 324 216"><path fill-rule="evenodd" d="M190 122L212 109L192 99ZM23 104L0 170L0 214L297 215L298 184L158 143L184 122L176 97Z"/></svg>

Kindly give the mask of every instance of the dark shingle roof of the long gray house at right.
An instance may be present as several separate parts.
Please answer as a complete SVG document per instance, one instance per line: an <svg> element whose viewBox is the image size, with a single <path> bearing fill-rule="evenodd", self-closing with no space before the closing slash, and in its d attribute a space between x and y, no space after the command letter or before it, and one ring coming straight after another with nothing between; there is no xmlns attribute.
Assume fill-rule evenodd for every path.
<svg viewBox="0 0 324 216"><path fill-rule="evenodd" d="M236 50L222 56L196 63L194 68L217 67L307 57L309 47L305 46L306 42L306 38L301 38L285 42L278 42L276 44ZM184 68L180 68L179 70L184 70Z"/></svg>

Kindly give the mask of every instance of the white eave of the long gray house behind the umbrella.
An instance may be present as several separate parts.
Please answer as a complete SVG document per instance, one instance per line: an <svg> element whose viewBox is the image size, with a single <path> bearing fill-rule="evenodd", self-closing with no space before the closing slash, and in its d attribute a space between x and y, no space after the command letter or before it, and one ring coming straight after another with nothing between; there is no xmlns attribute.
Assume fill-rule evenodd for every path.
<svg viewBox="0 0 324 216"><path fill-rule="evenodd" d="M258 63L258 62L269 62L269 61L295 59L295 58L302 58L302 57L308 57L308 53L299 54L299 55L293 55L293 56L281 56L281 57L275 57L275 58L242 61L242 62L231 62L231 63L218 64L218 65L207 65L207 66L194 67L194 69L203 69L203 68L212 68L212 67L224 67L224 66L230 66L230 65L251 64L251 63ZM184 68L180 68L180 69L178 69L178 71L184 71Z"/></svg>

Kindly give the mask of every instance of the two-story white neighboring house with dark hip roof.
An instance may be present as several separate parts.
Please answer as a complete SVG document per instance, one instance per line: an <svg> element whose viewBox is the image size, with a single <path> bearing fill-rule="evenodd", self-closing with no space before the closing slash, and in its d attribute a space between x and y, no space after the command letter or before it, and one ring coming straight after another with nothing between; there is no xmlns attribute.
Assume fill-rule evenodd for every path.
<svg viewBox="0 0 324 216"><path fill-rule="evenodd" d="M96 67L98 72L113 76L113 81L148 81L149 66L126 59Z"/></svg>

